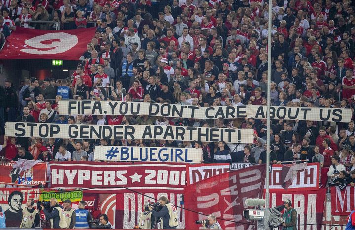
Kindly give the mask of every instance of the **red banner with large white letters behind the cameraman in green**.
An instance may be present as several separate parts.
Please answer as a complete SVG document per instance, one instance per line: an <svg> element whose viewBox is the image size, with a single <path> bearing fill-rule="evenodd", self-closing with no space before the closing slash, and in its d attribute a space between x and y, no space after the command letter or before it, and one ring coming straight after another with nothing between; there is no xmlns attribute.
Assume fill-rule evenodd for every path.
<svg viewBox="0 0 355 230"><path fill-rule="evenodd" d="M326 189L317 191L273 191L270 192L270 207L282 205L283 201L292 201L292 207L298 214L297 229L321 230ZM265 194L264 194L265 196Z"/></svg>

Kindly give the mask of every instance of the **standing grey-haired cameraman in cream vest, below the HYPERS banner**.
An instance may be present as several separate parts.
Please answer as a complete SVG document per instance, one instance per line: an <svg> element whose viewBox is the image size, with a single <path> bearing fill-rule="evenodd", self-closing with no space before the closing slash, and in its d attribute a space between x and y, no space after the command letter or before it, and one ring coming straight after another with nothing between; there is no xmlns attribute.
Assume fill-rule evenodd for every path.
<svg viewBox="0 0 355 230"><path fill-rule="evenodd" d="M178 213L175 206L164 196L159 198L159 203L163 206L159 212L153 210L151 206L149 206L149 210L153 210L153 216L163 218L163 229L176 229L178 226Z"/></svg>

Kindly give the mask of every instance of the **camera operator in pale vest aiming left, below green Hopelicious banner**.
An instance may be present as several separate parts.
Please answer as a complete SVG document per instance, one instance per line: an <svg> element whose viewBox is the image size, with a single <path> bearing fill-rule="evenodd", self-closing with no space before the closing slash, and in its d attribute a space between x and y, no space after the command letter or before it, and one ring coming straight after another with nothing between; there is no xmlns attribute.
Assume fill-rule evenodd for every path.
<svg viewBox="0 0 355 230"><path fill-rule="evenodd" d="M50 199L50 206L52 208L52 212L49 212L41 205L41 208L47 219L50 219L51 228L52 229L66 229L67 223L65 221L63 208L59 205L59 202L56 198Z"/></svg>

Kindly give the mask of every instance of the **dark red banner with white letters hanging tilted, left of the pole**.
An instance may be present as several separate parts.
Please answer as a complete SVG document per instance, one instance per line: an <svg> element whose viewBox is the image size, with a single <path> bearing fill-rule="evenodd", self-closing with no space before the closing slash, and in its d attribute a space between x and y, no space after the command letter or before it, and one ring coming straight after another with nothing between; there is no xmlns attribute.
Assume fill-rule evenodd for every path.
<svg viewBox="0 0 355 230"><path fill-rule="evenodd" d="M187 185L185 208L223 218L218 221L222 229L248 229L250 224L243 218L244 201L262 196L265 168L265 164L255 165ZM186 213L186 229L198 229L201 225L196 226L195 220L207 219L195 212Z"/></svg>

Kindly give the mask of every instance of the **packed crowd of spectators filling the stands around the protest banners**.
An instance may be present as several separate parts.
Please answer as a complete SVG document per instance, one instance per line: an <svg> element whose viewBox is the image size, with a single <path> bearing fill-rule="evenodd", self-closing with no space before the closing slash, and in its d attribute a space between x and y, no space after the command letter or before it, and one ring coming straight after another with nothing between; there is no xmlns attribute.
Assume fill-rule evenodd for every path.
<svg viewBox="0 0 355 230"><path fill-rule="evenodd" d="M329 167L336 185L355 183L355 127L312 120L176 119L122 115L58 115L59 100L114 100L182 105L355 107L355 1L273 0L1 0L1 34L21 27L97 27L68 79L25 79L0 86L0 119L60 124L179 125L254 129L254 143L166 140L71 140L8 137L7 158L94 159L95 145L202 148L204 163L306 160ZM272 72L267 73L267 53ZM266 95L271 77L271 94ZM353 115L354 119L354 115ZM5 138L6 139L6 138ZM343 178L343 179L342 179ZM337 179L339 181L334 181Z"/></svg>

